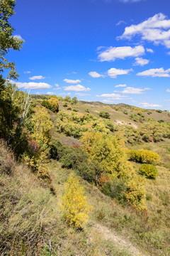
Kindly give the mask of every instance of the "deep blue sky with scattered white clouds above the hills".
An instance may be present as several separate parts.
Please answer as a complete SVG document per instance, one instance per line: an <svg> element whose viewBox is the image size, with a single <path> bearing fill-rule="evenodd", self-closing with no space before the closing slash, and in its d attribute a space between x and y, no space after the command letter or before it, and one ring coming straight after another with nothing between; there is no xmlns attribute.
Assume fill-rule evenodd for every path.
<svg viewBox="0 0 170 256"><path fill-rule="evenodd" d="M168 0L16 0L11 51L33 94L170 110Z"/></svg>

